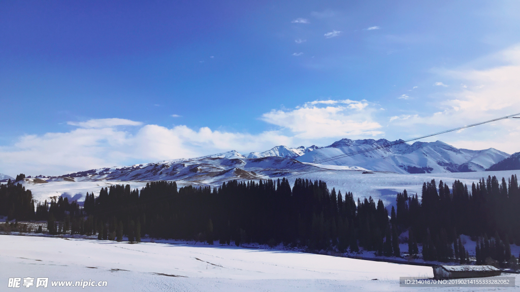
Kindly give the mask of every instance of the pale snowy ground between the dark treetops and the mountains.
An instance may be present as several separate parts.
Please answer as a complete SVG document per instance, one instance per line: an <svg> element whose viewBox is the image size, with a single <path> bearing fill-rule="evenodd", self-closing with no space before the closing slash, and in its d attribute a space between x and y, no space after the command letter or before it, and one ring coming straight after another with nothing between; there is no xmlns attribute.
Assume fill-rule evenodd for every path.
<svg viewBox="0 0 520 292"><path fill-rule="evenodd" d="M318 166L319 167L319 166ZM318 168L317 167L317 168ZM331 166L326 166L331 167ZM345 166L340 166L346 168ZM319 171L303 172L301 175L293 175L289 177L292 183L296 178L307 178L311 180L323 180L327 182L329 189L335 188L341 190L342 193L352 192L357 200L364 197L372 196L374 200L381 198L385 205L395 204L395 197L398 192L407 190L409 194L418 193L421 196L422 184L425 181L435 179L438 183L443 180L451 184L454 180L460 180L471 188L473 182L477 182L480 178L488 176L497 176L507 178L511 175L520 176L520 170L503 170L503 171L476 171L476 172L444 172L439 174L396 174L395 172L373 172L363 174L361 170L350 169L324 169ZM79 180L79 179L78 179ZM97 196L101 188L110 187L112 184L130 184L132 188L142 188L147 181L119 181L119 180L79 180L66 181L49 181L47 183L31 183L23 182L25 188L30 189L33 197L37 201L50 200L50 197L59 197L60 195L69 196L69 200L83 201L86 192L94 192ZM177 181L179 187L187 184L196 184L192 181ZM218 182L216 185L222 184ZM205 185L205 184L199 184Z"/></svg>

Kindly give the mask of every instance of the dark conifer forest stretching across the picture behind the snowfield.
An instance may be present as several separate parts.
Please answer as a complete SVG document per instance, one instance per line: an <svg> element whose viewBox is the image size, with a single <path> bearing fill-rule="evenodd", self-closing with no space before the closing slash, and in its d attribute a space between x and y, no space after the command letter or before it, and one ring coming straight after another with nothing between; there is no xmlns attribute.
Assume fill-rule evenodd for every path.
<svg viewBox="0 0 520 292"><path fill-rule="evenodd" d="M406 190L397 194L396 208L390 212L381 200L358 198L356 203L352 193L343 195L329 190L326 182L306 179L296 179L292 188L285 178L233 180L218 188L178 189L175 182L166 181L147 183L141 190L112 185L101 189L97 197L87 193L83 208L60 197L50 204L38 203L32 215L27 205L30 191L14 184L2 185L0 191L4 189L22 190L26 197L14 200L18 194L23 196L19 191L4 201L0 192L0 214L9 209L10 218L20 214L47 220L50 233L70 230L98 234L99 239L122 240L126 235L135 241L148 234L210 244L215 240L236 245L283 243L340 252L356 252L361 246L382 256L400 256L399 235L408 231L408 254L419 254L418 244L422 244L425 260L464 263L469 255L460 235L465 234L478 238L480 264L504 263L511 258L510 244L520 244L516 176L507 181L483 178L471 188L456 180L451 190L446 183L432 180L424 183L421 198ZM11 207L16 204L25 207Z"/></svg>

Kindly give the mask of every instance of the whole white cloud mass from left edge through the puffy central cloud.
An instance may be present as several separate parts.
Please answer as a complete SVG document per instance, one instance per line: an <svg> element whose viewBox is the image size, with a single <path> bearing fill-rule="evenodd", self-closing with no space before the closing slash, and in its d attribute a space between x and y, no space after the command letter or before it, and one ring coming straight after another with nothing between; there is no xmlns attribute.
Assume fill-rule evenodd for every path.
<svg viewBox="0 0 520 292"><path fill-rule="evenodd" d="M168 128L122 118L69 122L77 128L23 135L12 145L0 146L0 172L63 175L230 150L249 153L321 138L373 136L382 133L378 130L381 125L373 121L374 111L366 100L311 101L295 109L263 114L261 120L279 129L258 134L209 127L192 129L186 125Z"/></svg>

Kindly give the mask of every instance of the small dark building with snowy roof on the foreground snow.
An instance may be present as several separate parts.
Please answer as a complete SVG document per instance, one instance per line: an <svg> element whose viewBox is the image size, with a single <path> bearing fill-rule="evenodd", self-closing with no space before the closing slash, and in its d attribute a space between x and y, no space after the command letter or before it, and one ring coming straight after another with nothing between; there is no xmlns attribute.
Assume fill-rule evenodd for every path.
<svg viewBox="0 0 520 292"><path fill-rule="evenodd" d="M493 266L434 266L436 279L476 278L499 276L501 271Z"/></svg>

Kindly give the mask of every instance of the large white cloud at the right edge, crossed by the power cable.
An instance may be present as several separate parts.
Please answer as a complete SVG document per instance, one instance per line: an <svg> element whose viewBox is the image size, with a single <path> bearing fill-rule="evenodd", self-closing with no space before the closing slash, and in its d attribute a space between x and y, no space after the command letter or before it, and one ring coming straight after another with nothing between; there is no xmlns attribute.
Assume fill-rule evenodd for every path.
<svg viewBox="0 0 520 292"><path fill-rule="evenodd" d="M496 65L490 66L491 62ZM487 69L482 69L486 68L482 64L487 64ZM462 69L435 72L461 87L449 87L447 92L430 96L431 113L412 116L406 122L395 121L396 125L426 132L425 129L450 129L520 112L520 45L479 58ZM520 151L520 122L502 120L469 128L463 135L447 134L438 139L456 147L475 150L494 147L514 153Z"/></svg>

